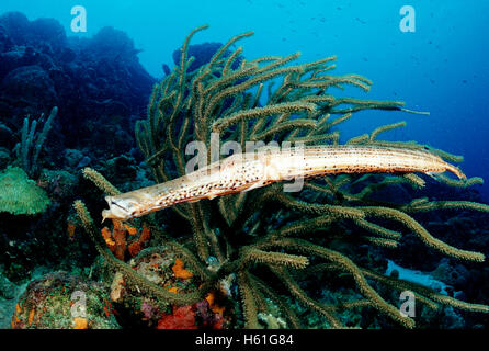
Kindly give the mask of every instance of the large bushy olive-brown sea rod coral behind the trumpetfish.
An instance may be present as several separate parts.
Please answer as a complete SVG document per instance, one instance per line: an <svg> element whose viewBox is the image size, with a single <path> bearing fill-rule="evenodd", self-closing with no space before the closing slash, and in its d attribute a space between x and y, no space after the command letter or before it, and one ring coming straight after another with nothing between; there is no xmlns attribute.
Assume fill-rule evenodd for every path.
<svg viewBox="0 0 489 351"><path fill-rule="evenodd" d="M289 141L304 143L306 147L330 145L332 150L338 150L341 146L338 145L337 126L355 112L373 109L411 112L405 110L401 102L332 95L332 88L352 86L368 91L372 84L368 79L356 75L331 76L334 57L292 65L299 54L270 56L241 59L239 66L234 68L242 47L236 48L230 55L227 55L228 50L252 33L232 37L206 65L189 71L193 61L193 57L187 57L189 43L196 32L205 27L192 31L186 37L181 49L180 66L155 87L148 118L136 125L139 148L157 183L186 173L189 156L185 155L185 145L193 140L205 146L207 161L213 160L211 150L216 135L219 143L236 140L242 149L246 149L247 141ZM264 104L261 103L263 100ZM350 139L346 147L364 151L393 148L405 152L402 155L435 157L442 165L448 165L442 159L462 161L460 157L414 141L377 139L382 133L405 124L400 122L382 126L369 135ZM405 156L405 159L408 157ZM350 166L341 165L343 169ZM458 169L448 166L462 174ZM391 165L387 165L384 170L396 171L389 167ZM368 172L368 168L364 171ZM355 263L353 258L333 245L340 240L352 246L360 242L394 249L398 247L403 233L412 233L432 250L462 260L484 261L481 253L452 247L433 237L411 214L443 208L489 212L489 206L429 199L413 199L408 204L378 200L375 194L388 186L423 186L424 180L413 172L430 170L406 168L397 171L400 173L359 176L322 172L320 178L306 179L305 190L300 192L283 192L282 184L275 183L214 200L174 204L169 208L189 224L186 228L179 228L179 235L190 240L177 240L163 233L161 224L153 216L130 219L136 223L143 220L152 230L158 230L161 245L182 258L189 270L204 282L192 292L179 294L156 285L135 272L129 264L116 259L107 249L83 202L77 201L75 208L101 256L124 276L127 284L137 286L143 295L168 304L191 305L218 288L223 279L235 276L240 295L239 310L242 312L247 328L261 327L259 320L263 318L260 316L270 316L275 309L287 320L287 327L304 327L305 320L299 317L294 304L289 303L291 297L286 296L286 292L303 308L325 317L330 328L345 327L342 313L359 308L373 308L401 326L414 327L414 320L402 316L395 302L380 295L379 285L399 293L409 290L416 295L417 302L427 308L437 309L450 305L488 313L489 306L458 301L411 282L385 276L373 267ZM106 195L120 195L120 191L96 171L86 169L83 174ZM447 177L437 179L455 186L481 182L479 178L457 181ZM209 264L213 260L217 264ZM354 283L357 293L355 298L325 304L308 295L304 285L308 274L305 273L331 271L339 272L342 279ZM266 284L265 280L276 280L282 286ZM328 281L323 284L328 286Z"/></svg>

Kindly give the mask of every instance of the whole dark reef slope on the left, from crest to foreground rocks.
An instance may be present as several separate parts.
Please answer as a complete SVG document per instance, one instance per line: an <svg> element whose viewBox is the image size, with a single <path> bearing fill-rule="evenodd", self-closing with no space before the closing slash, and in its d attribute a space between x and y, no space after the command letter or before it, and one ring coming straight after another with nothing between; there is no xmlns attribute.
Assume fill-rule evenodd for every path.
<svg viewBox="0 0 489 351"><path fill-rule="evenodd" d="M83 189L81 168L117 174L122 190L141 174L134 121L146 111L156 80L137 54L133 41L111 27L76 38L56 20L0 14L0 173L3 185L10 184L8 167L32 180L15 194L12 186L0 192L0 267L13 282L39 265L89 271L94 252L71 203L81 192L98 194ZM13 210L22 194L25 210Z"/></svg>

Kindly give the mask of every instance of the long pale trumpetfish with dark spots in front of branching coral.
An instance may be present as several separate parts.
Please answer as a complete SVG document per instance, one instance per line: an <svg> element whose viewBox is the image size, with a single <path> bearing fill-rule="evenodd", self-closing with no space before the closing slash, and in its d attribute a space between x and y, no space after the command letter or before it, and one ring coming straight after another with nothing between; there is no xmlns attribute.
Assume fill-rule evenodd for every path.
<svg viewBox="0 0 489 351"><path fill-rule="evenodd" d="M309 146L232 155L177 178L115 196L106 196L103 218L130 219L174 204L249 191L294 178L338 173L464 173L427 150L375 146Z"/></svg>

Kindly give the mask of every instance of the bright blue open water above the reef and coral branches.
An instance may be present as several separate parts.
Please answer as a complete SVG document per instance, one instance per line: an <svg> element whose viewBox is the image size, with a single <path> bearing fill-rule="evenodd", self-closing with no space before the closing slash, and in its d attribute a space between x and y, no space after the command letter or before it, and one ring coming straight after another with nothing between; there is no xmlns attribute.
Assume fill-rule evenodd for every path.
<svg viewBox="0 0 489 351"><path fill-rule="evenodd" d="M416 32L401 32L400 9L416 10ZM87 32L70 29L71 9L87 10ZM153 77L172 66L171 54L194 27L207 23L194 43L226 42L254 31L241 43L247 57L302 52L302 60L337 55L337 72L374 81L364 98L401 100L430 116L366 111L343 125L342 138L407 121L387 139L417 140L465 157L469 177L489 179L489 61L486 1L323 0L2 0L1 12L21 11L30 20L57 19L68 35L91 36L103 26L125 31L143 52ZM356 97L363 97L360 91ZM489 186L481 186L486 201Z"/></svg>

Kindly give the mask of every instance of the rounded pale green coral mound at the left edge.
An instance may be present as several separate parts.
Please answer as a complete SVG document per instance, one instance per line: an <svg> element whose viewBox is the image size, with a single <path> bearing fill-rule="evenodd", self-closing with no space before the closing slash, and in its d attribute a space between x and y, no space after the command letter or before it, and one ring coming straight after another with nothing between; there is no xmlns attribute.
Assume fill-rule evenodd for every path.
<svg viewBox="0 0 489 351"><path fill-rule="evenodd" d="M0 212L35 215L50 204L46 192L19 167L9 167L0 173Z"/></svg>

